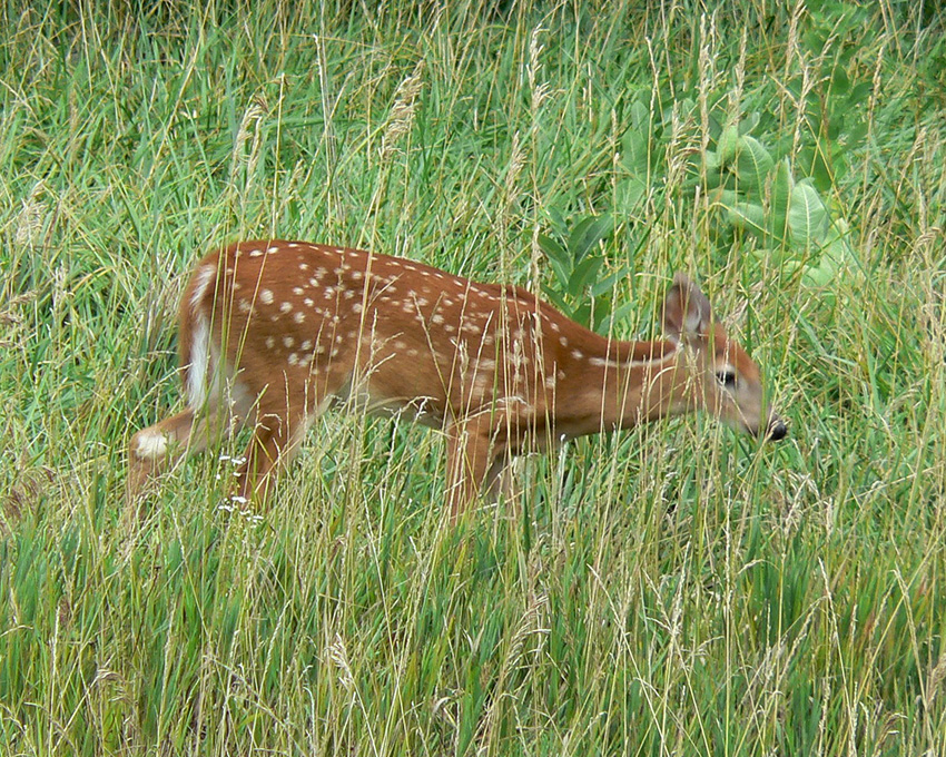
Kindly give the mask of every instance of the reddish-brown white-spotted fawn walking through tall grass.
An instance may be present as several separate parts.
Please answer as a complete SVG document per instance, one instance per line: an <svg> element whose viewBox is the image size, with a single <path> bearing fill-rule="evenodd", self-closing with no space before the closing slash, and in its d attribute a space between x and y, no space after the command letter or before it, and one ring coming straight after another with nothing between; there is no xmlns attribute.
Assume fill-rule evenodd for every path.
<svg viewBox="0 0 946 757"><path fill-rule="evenodd" d="M678 275L666 341L588 331L514 286L302 242L244 242L197 264L180 305L187 409L139 431L128 492L248 423L238 502L266 497L316 416L352 401L446 435L453 518L512 455L704 409L757 436L785 424L759 370Z"/></svg>

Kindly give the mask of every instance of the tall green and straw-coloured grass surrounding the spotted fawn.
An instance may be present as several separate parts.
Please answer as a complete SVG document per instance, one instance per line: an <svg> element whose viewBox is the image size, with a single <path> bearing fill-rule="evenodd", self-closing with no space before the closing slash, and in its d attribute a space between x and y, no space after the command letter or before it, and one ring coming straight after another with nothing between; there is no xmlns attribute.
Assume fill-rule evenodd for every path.
<svg viewBox="0 0 946 757"><path fill-rule="evenodd" d="M0 6L0 754L946 754L946 18L598 4ZM740 122L849 225L824 286L717 201ZM331 414L262 519L219 454L122 519L207 249L554 285L604 213L614 328L698 274L788 440L569 444L452 529L440 434Z"/></svg>

